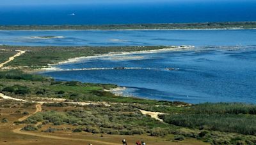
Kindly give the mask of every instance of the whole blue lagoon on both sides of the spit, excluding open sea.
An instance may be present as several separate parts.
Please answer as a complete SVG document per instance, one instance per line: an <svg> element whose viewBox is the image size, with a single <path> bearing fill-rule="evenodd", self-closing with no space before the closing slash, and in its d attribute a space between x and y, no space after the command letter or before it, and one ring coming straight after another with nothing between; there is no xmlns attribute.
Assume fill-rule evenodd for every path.
<svg viewBox="0 0 256 145"><path fill-rule="evenodd" d="M63 36L60 39L29 39ZM256 30L0 31L0 43L30 46L195 45L193 50L133 54L61 64L56 79L126 86L124 95L184 102L256 103ZM166 68L175 70L166 70Z"/></svg>

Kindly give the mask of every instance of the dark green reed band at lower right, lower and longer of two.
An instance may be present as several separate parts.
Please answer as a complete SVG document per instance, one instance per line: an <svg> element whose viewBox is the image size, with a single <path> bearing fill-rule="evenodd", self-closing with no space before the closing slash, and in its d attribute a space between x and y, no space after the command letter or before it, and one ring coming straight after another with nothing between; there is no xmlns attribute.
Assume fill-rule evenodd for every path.
<svg viewBox="0 0 256 145"><path fill-rule="evenodd" d="M243 114L173 114L164 115L163 120L181 127L256 135L256 116Z"/></svg>

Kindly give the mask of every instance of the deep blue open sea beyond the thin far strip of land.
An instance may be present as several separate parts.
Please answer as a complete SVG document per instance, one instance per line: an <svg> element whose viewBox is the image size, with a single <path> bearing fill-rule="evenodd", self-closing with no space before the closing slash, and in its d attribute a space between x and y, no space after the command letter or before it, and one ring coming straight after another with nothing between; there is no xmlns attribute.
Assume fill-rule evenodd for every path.
<svg viewBox="0 0 256 145"><path fill-rule="evenodd" d="M255 21L255 7L252 0L0 6L0 25Z"/></svg>

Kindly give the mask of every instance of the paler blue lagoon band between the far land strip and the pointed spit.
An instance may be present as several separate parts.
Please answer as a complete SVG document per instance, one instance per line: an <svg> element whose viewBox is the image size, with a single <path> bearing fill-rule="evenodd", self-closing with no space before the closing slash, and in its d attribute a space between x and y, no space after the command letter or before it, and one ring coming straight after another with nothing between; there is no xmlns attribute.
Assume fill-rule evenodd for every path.
<svg viewBox="0 0 256 145"><path fill-rule="evenodd" d="M58 39L31 39L38 36ZM0 31L1 45L24 46L246 46L255 38L256 30Z"/></svg>

